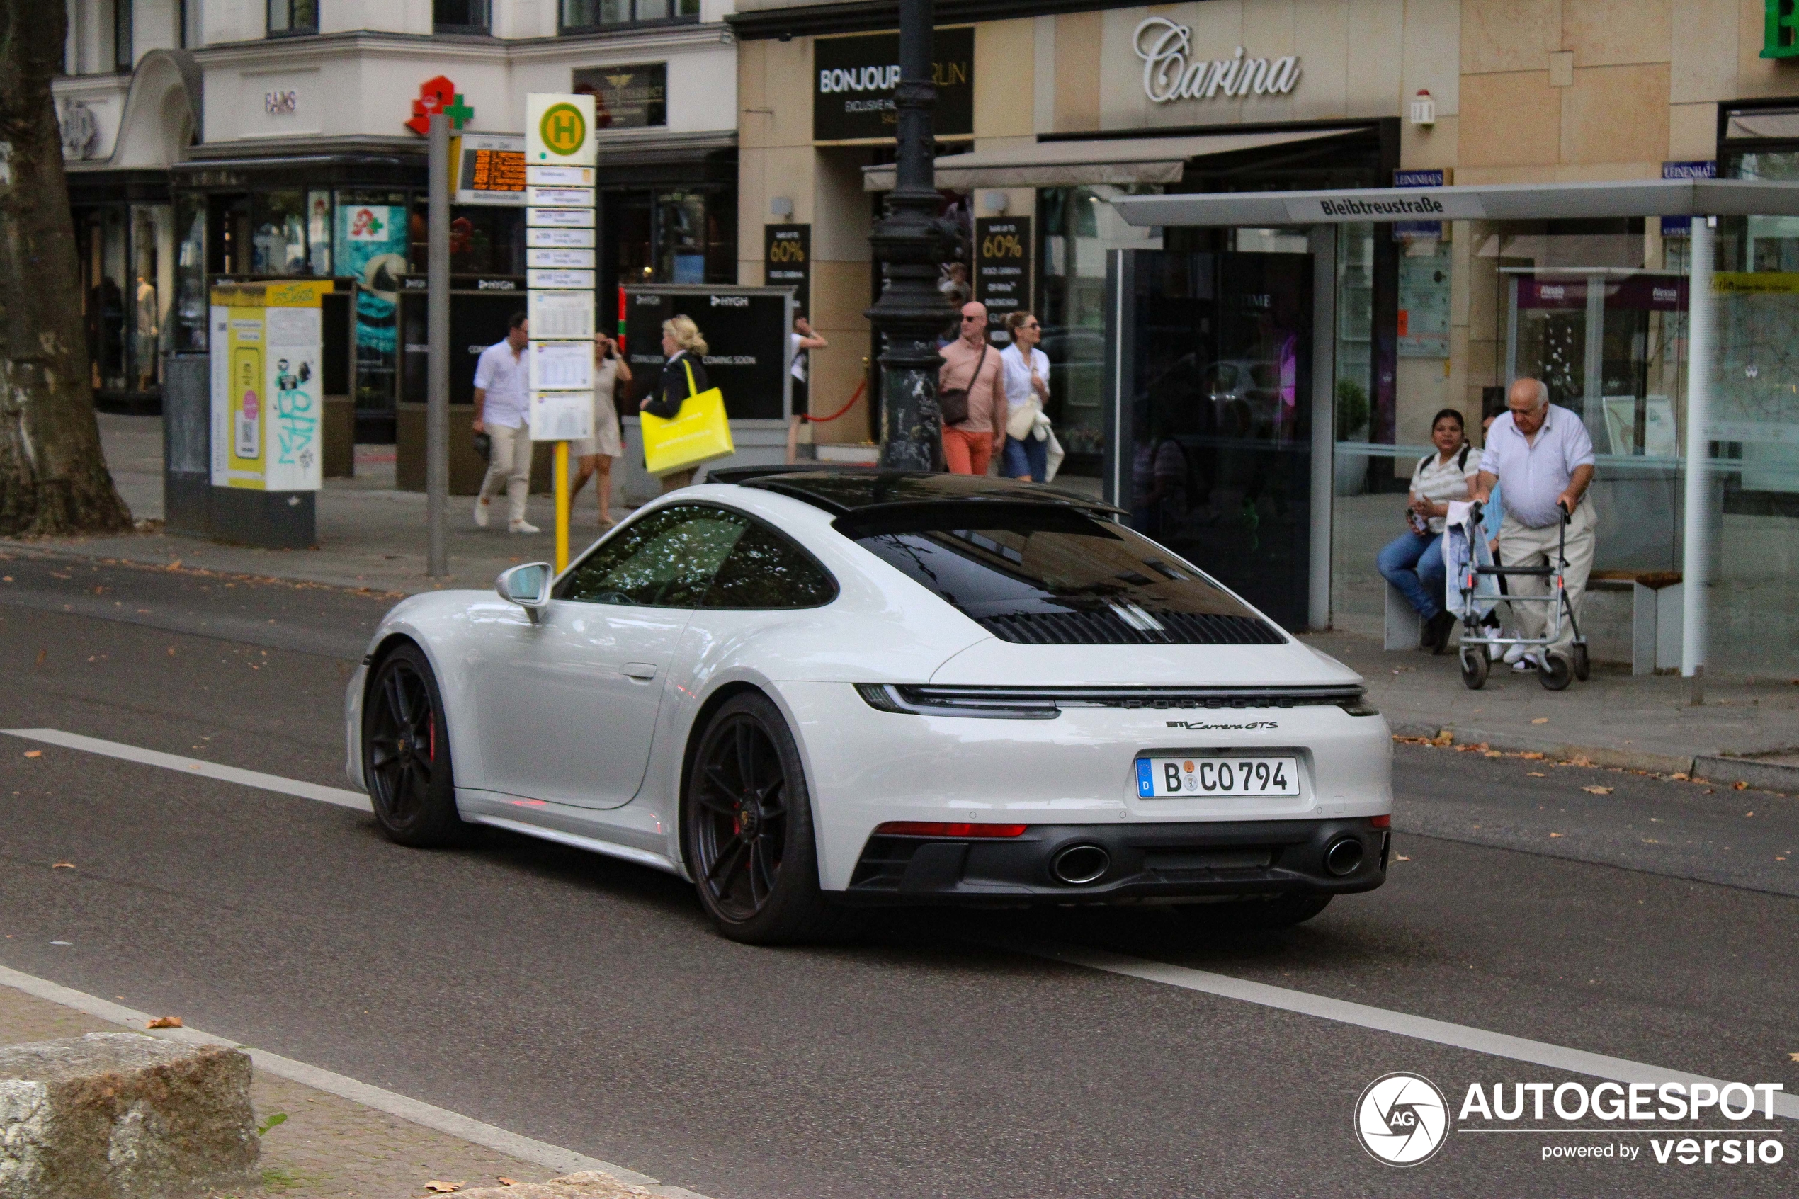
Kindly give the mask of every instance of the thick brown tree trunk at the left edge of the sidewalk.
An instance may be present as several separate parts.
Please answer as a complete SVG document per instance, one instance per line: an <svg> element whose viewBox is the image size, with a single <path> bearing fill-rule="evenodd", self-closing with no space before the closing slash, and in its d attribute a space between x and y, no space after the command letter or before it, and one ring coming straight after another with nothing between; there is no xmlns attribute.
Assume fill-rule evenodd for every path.
<svg viewBox="0 0 1799 1199"><path fill-rule="evenodd" d="M0 536L117 532L50 79L63 4L0 0Z"/></svg>

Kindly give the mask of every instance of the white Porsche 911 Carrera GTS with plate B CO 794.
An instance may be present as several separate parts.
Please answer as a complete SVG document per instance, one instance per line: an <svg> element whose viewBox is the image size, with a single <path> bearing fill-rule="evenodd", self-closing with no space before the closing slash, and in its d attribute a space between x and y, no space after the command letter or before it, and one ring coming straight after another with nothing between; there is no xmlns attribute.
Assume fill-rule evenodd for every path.
<svg viewBox="0 0 1799 1199"><path fill-rule="evenodd" d="M869 904L1310 919L1387 872L1360 678L1115 509L1009 480L732 469L567 572L398 604L349 775L403 845L498 825L691 879L747 942Z"/></svg>

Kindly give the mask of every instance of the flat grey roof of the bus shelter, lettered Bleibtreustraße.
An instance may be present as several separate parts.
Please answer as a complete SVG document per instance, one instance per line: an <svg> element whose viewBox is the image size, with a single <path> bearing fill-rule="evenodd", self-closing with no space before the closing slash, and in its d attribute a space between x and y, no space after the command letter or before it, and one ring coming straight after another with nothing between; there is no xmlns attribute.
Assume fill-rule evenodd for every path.
<svg viewBox="0 0 1799 1199"><path fill-rule="evenodd" d="M1558 221L1616 216L1799 216L1799 183L1612 180L1374 187L1328 192L1117 196L1130 225L1347 225L1356 221Z"/></svg>

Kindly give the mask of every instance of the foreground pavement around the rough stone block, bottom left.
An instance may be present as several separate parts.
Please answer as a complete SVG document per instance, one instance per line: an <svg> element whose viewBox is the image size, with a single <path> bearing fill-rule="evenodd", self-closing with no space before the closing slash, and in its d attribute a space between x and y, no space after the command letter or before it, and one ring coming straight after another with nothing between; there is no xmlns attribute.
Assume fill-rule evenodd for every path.
<svg viewBox="0 0 1799 1199"><path fill-rule="evenodd" d="M7 971L11 974L11 971ZM11 976L20 981L29 976ZM41 980L31 980L40 983ZM40 987L41 989L41 987ZM126 1008L119 1008L122 1014ZM137 1014L133 1014L137 1016ZM108 1021L76 1007L56 1003L0 983L0 1044L79 1037L86 1032L119 1032L121 1025L144 1030L142 1019ZM153 1034L192 1039L180 1032ZM441 1132L437 1129L378 1111L353 1098L284 1079L257 1066L250 1089L259 1125L275 1115L284 1120L263 1134L263 1186L252 1195L218 1199L416 1199L432 1194L428 1183L477 1190L513 1183L543 1183L574 1168L606 1163L568 1150L540 1154L550 1161L524 1158ZM522 1140L522 1138L518 1138ZM655 1179L610 1167L621 1183L648 1190L617 1194L702 1199L676 1186L657 1186ZM482 1192L486 1194L486 1192ZM525 1192L531 1194L531 1192Z"/></svg>

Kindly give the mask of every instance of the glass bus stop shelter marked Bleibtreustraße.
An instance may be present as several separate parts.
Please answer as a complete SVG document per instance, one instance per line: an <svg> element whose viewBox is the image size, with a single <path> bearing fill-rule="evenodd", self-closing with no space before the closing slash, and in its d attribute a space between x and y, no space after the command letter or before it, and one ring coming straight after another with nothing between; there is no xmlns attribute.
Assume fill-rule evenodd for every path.
<svg viewBox="0 0 1799 1199"><path fill-rule="evenodd" d="M1430 413L1479 442L1535 376L1594 439L1598 566L1684 579L1682 674L1799 669L1799 183L1110 203L1159 243L1106 255L1105 493L1137 527L1344 627Z"/></svg>

